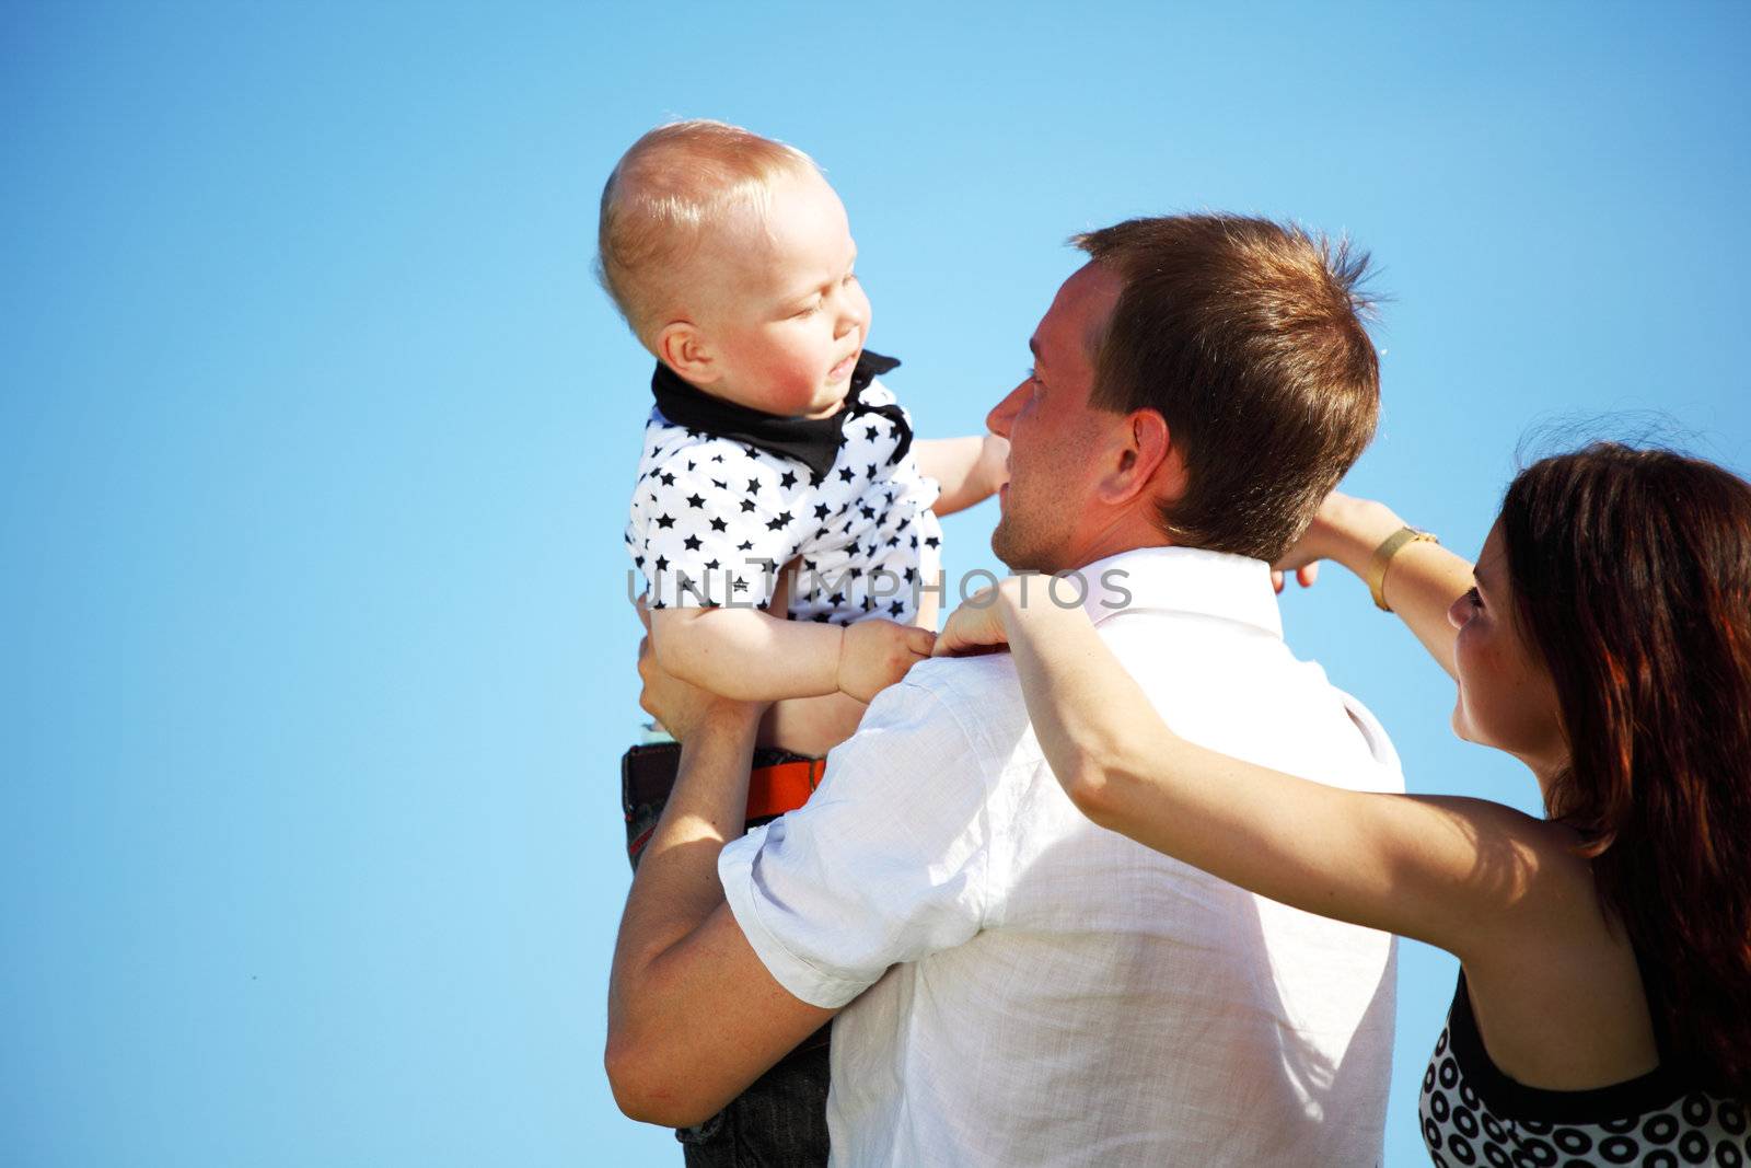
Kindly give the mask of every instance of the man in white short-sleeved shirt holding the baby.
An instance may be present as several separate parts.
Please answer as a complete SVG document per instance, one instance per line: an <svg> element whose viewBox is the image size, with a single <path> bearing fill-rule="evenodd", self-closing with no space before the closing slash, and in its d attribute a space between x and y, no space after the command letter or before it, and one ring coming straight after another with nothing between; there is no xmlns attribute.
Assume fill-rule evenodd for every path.
<svg viewBox="0 0 1751 1168"><path fill-rule="evenodd" d="M1089 264L989 415L1010 441L993 548L1080 569L1059 594L1086 590L1180 734L1399 790L1378 725L1283 648L1268 567L1373 433L1362 261L1227 215L1077 243ZM1007 657L912 669L809 804L742 839L758 711L641 671L685 753L615 954L627 1114L699 1122L842 1010L839 1164L1378 1159L1390 939L1089 823Z"/></svg>

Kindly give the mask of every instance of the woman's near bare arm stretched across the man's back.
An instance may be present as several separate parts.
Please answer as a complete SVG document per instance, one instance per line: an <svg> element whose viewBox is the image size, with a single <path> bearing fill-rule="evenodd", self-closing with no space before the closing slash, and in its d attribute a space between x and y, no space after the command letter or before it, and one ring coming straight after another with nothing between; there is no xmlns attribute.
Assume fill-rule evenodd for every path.
<svg viewBox="0 0 1751 1168"><path fill-rule="evenodd" d="M1187 742L1082 609L1023 606L1014 580L988 615L956 613L939 651L1000 637L1040 749L1101 827L1271 900L1460 956L1525 935L1532 914L1572 912L1560 828L1474 799L1333 788Z"/></svg>

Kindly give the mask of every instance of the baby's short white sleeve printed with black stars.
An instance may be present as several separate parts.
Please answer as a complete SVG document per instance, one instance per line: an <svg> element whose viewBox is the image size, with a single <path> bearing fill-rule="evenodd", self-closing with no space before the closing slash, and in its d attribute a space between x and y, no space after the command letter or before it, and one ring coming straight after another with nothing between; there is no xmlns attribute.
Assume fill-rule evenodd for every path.
<svg viewBox="0 0 1751 1168"><path fill-rule="evenodd" d="M737 457L721 462L718 447ZM657 462L632 501L634 562L651 608L760 608L795 553L795 515L772 469L730 443L681 447Z"/></svg>

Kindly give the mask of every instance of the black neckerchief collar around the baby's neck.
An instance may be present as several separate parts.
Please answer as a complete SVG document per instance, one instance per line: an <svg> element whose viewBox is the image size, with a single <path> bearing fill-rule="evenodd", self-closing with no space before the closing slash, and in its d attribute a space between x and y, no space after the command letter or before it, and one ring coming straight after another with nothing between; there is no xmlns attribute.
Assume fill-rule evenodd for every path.
<svg viewBox="0 0 1751 1168"><path fill-rule="evenodd" d="M846 424L860 415L874 413L893 422L898 441L888 459L890 466L898 464L912 448L912 427L905 424L905 413L900 412L900 406L876 406L863 401L863 391L868 389L870 382L897 368L900 362L893 357L883 357L865 348L856 368L851 369L851 391L846 394L844 406L825 419L786 419L713 398L683 382L662 361L657 362L657 371L651 375L651 392L657 396L657 408L676 426L718 438L734 438L769 454L797 459L814 473L814 482L819 483L826 478L826 471L833 469L839 448L846 445Z"/></svg>

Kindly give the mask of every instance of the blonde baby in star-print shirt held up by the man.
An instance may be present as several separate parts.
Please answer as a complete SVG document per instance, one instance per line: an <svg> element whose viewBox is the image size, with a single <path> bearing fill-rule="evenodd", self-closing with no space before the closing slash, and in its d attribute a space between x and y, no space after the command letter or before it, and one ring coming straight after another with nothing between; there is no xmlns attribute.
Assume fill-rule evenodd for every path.
<svg viewBox="0 0 1751 1168"><path fill-rule="evenodd" d="M846 210L800 151L658 126L608 179L599 245L657 357L625 534L657 660L725 697L816 699L762 742L825 753L930 655L937 517L998 489L1007 443L912 441L876 380L898 361L863 347Z"/></svg>

